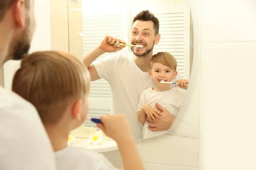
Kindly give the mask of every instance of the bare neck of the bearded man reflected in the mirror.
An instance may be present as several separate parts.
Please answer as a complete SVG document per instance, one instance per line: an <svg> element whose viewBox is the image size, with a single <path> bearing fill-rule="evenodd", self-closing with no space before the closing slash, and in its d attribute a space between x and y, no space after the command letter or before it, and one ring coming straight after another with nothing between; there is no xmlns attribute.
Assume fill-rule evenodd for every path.
<svg viewBox="0 0 256 170"><path fill-rule="evenodd" d="M134 55L134 62L140 68L141 71L148 72L150 69L150 60L152 56L153 56L153 51L141 57L137 57L136 55Z"/></svg>

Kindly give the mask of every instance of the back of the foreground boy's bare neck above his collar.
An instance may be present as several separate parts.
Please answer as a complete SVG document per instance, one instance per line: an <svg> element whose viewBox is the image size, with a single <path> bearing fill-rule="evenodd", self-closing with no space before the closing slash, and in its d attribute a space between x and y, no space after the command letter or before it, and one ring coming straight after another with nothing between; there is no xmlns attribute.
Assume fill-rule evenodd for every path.
<svg viewBox="0 0 256 170"><path fill-rule="evenodd" d="M44 125L54 151L67 147L67 140L70 131L60 125Z"/></svg>

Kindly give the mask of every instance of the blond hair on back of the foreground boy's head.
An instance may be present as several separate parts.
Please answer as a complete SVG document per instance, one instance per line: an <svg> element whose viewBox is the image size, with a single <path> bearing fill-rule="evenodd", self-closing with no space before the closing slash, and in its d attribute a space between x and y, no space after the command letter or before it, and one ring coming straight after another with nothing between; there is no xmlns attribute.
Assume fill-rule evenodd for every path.
<svg viewBox="0 0 256 170"><path fill-rule="evenodd" d="M83 63L61 51L39 51L21 62L12 90L31 102L44 124L54 124L67 107L89 93L90 74Z"/></svg>

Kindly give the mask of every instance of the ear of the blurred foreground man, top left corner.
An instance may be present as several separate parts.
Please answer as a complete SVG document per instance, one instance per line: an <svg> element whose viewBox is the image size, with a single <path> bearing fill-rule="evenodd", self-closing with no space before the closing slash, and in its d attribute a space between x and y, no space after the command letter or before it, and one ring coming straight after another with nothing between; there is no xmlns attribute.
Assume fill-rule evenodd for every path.
<svg viewBox="0 0 256 170"><path fill-rule="evenodd" d="M11 8L14 17L14 22L17 28L24 29L26 26L26 7L24 0L16 0Z"/></svg>

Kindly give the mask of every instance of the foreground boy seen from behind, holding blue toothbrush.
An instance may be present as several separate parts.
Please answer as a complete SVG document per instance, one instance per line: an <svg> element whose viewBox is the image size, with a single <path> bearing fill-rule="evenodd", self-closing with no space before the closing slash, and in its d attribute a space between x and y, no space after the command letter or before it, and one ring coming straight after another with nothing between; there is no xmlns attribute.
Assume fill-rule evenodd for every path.
<svg viewBox="0 0 256 170"><path fill-rule="evenodd" d="M114 169L102 155L67 145L70 131L86 119L89 88L90 74L87 68L79 59L64 52L30 54L22 60L20 69L15 73L12 90L38 110L55 151L59 170ZM124 169L143 170L125 117L108 115L102 116L101 121L102 124L97 126L116 141Z"/></svg>

